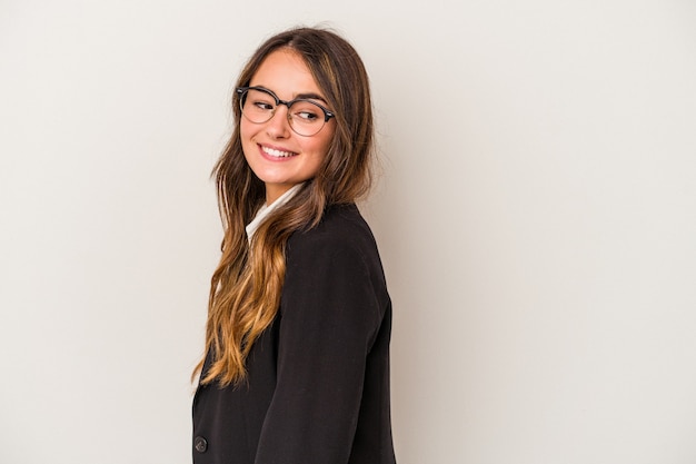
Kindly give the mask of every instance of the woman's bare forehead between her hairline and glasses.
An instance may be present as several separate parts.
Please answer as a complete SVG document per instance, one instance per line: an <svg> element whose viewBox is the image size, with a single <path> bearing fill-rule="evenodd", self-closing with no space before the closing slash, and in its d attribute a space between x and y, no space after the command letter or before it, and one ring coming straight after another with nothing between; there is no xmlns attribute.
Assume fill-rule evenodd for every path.
<svg viewBox="0 0 696 464"><path fill-rule="evenodd" d="M305 60L297 51L287 48L266 57L249 85L272 90L280 99L291 99L300 93L322 95Z"/></svg>

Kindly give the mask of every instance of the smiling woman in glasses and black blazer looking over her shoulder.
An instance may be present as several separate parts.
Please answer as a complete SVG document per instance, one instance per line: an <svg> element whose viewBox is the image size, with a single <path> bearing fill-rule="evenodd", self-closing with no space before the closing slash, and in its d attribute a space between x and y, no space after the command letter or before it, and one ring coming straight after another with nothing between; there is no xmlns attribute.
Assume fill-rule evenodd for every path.
<svg viewBox="0 0 696 464"><path fill-rule="evenodd" d="M374 156L362 62L334 32L292 29L237 86L193 462L395 463L391 305L355 205Z"/></svg>

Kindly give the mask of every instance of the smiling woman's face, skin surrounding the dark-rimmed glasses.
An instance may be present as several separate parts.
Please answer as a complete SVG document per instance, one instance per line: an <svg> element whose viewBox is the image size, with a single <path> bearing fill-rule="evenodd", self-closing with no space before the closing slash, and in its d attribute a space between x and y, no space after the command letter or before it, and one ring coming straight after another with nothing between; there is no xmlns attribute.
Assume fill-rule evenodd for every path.
<svg viewBox="0 0 696 464"><path fill-rule="evenodd" d="M249 86L264 87L286 101L302 93L322 96L307 65L289 49L276 50L266 57ZM327 107L326 101L315 100ZM243 116L240 119L245 158L253 174L266 184L267 204L317 174L336 130L331 118L318 134L302 137L292 131L287 116L288 107L278 105L267 122L255 124Z"/></svg>

